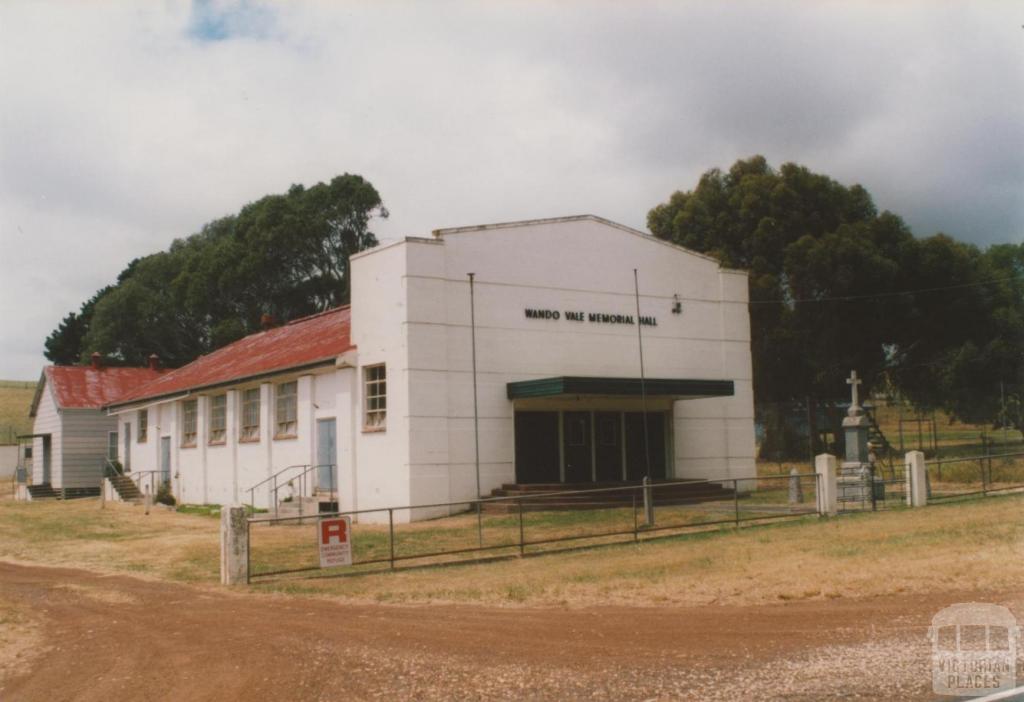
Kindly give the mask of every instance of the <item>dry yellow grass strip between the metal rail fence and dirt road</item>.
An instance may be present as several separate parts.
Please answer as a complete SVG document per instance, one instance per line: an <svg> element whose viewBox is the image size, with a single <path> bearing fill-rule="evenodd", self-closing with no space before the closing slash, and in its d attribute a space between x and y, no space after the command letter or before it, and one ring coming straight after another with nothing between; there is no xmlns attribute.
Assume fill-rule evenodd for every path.
<svg viewBox="0 0 1024 702"><path fill-rule="evenodd" d="M1022 507L1022 495L990 497L488 565L262 587L378 602L569 606L751 605L1010 589L1024 580Z"/></svg>

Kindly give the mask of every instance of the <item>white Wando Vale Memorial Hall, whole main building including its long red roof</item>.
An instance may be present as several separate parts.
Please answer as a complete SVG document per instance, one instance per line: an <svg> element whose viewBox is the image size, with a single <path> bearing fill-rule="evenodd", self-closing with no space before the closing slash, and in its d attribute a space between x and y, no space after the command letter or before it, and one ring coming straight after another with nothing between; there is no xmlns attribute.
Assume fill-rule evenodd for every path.
<svg viewBox="0 0 1024 702"><path fill-rule="evenodd" d="M353 256L351 307L247 337L112 404L135 437L133 470L163 471L185 502L248 501L275 472L317 464L331 468L310 482L333 483L342 511L474 497L469 273L484 494L640 479L645 405L651 477L755 476L746 274L589 215Z"/></svg>

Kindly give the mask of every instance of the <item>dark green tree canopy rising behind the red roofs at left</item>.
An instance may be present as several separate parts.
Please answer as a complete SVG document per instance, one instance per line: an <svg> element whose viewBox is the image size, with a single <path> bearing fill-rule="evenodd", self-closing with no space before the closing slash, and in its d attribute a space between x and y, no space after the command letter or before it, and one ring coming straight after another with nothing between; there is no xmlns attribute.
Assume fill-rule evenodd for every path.
<svg viewBox="0 0 1024 702"><path fill-rule="evenodd" d="M344 174L251 203L135 259L117 283L72 312L46 340L55 363L98 351L171 366L259 328L265 314L287 320L348 302L348 257L377 244L374 217L387 217L374 186Z"/></svg>

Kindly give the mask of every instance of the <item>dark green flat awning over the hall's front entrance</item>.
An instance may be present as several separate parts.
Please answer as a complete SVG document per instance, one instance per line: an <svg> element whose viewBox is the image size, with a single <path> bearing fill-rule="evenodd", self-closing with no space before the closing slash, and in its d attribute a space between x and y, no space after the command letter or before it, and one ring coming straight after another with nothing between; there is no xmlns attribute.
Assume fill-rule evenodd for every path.
<svg viewBox="0 0 1024 702"><path fill-rule="evenodd" d="M614 395L640 397L639 378L581 378L559 376L536 381L518 381L506 386L510 400L556 395ZM732 381L700 381L648 378L644 390L650 397L729 397L735 394Z"/></svg>

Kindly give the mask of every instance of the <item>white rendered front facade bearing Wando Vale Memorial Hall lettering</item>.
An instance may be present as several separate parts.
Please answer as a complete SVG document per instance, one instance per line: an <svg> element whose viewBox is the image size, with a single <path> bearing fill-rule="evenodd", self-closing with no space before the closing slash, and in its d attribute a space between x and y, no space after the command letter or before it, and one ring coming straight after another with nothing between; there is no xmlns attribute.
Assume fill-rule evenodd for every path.
<svg viewBox="0 0 1024 702"><path fill-rule="evenodd" d="M388 471L395 482L389 491L395 500L404 489L412 503L476 494L469 272L476 274L484 494L515 476L509 382L553 376L639 377L636 324L570 321L564 316L570 310L635 317L634 268L640 277L640 314L657 320L656 326L642 327L647 377L735 384L734 397L674 403L675 465L670 475L755 474L745 274L594 220L442 235L440 240L406 239L353 259L352 320L360 369L379 360L388 362L388 445L374 446L373 455L390 451L392 460L404 458L408 467L408 477ZM671 311L676 295L683 305L679 315ZM562 318L527 318L526 308L559 310ZM403 337L396 336L402 327ZM628 404L605 399L591 400L588 406ZM392 431L396 421L406 423L408 435ZM386 463L367 462L367 439L362 435L358 442L360 481L367 473L379 474ZM379 478L375 480L379 485ZM383 489L365 496L376 500Z"/></svg>

